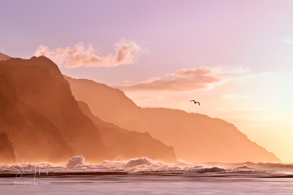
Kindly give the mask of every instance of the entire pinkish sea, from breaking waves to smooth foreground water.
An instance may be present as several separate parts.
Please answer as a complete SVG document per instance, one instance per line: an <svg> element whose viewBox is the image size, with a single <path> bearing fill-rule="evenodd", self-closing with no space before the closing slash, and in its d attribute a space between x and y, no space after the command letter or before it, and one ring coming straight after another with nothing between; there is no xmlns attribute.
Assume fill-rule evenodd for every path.
<svg viewBox="0 0 293 195"><path fill-rule="evenodd" d="M1 194L293 194L292 164L74 162L0 165Z"/></svg>

